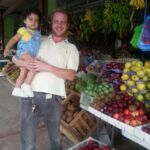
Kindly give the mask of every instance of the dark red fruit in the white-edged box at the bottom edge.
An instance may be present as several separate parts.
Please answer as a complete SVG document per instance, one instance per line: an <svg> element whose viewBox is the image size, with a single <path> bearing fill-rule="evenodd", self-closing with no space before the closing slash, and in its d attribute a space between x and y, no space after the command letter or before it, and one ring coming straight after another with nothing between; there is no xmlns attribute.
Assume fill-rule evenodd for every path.
<svg viewBox="0 0 150 150"><path fill-rule="evenodd" d="M110 146L99 144L97 141L89 140L85 145L80 146L77 150L112 150Z"/></svg>

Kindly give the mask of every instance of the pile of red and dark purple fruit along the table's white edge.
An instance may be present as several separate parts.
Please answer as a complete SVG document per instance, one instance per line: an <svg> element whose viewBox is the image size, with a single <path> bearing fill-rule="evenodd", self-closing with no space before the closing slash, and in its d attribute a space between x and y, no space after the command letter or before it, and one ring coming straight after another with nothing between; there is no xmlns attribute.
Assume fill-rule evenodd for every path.
<svg viewBox="0 0 150 150"><path fill-rule="evenodd" d="M131 126L148 122L143 103L134 101L127 93L118 93L115 100L106 103L100 111Z"/></svg>

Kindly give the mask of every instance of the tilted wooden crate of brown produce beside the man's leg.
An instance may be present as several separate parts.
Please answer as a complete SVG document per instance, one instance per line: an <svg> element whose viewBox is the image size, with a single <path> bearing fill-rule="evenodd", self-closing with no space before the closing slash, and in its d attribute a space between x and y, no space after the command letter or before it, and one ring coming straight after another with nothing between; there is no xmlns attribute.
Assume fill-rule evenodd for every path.
<svg viewBox="0 0 150 150"><path fill-rule="evenodd" d="M95 131L96 118L80 108L80 94L71 92L62 102L61 125L68 138L72 135L74 143L82 141Z"/></svg>

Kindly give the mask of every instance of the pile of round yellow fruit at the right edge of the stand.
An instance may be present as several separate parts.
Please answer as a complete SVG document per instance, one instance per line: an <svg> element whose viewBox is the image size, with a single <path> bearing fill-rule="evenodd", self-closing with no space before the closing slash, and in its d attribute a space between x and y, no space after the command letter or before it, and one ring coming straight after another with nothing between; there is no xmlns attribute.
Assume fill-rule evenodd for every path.
<svg viewBox="0 0 150 150"><path fill-rule="evenodd" d="M150 109L150 62L136 60L125 63L120 86L122 92L128 92L136 100L144 102L147 110Z"/></svg>

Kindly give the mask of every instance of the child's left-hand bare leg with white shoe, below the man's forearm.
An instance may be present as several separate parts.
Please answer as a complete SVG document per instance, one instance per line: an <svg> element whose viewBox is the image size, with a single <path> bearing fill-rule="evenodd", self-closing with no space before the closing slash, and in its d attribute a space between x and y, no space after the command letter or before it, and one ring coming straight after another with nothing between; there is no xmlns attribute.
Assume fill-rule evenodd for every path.
<svg viewBox="0 0 150 150"><path fill-rule="evenodd" d="M21 90L21 85L24 82L26 75L27 75L27 69L21 68L20 69L20 75L16 80L15 88L12 91L13 96L27 97L27 95Z"/></svg>

